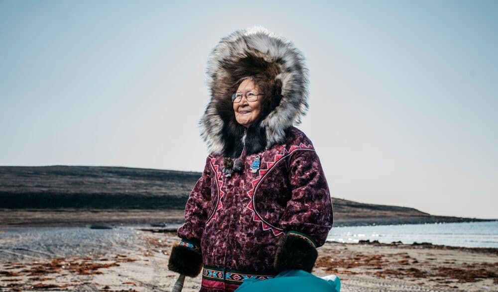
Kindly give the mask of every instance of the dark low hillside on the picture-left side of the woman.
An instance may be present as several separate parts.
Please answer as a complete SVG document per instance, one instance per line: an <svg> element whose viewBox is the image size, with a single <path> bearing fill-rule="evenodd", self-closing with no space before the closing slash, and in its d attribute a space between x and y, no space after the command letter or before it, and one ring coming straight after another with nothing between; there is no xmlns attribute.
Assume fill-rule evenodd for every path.
<svg viewBox="0 0 498 292"><path fill-rule="evenodd" d="M200 173L126 167L0 167L0 208L181 209Z"/></svg>

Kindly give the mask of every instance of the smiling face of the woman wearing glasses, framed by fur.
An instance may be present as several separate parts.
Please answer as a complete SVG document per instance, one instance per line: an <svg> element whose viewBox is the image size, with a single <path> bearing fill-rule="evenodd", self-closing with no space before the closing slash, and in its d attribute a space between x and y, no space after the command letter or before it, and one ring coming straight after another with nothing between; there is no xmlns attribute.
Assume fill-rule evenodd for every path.
<svg viewBox="0 0 498 292"><path fill-rule="evenodd" d="M259 87L254 84L251 80L244 80L239 88L237 89L237 92L242 92L244 94L248 92L255 92L255 93L260 93L259 92ZM246 95L242 97L241 102L235 102L234 103L234 111L235 111L235 119L237 122L246 128L254 122L257 117L259 116L259 113L261 112L261 96L258 96L256 101L248 101Z"/></svg>

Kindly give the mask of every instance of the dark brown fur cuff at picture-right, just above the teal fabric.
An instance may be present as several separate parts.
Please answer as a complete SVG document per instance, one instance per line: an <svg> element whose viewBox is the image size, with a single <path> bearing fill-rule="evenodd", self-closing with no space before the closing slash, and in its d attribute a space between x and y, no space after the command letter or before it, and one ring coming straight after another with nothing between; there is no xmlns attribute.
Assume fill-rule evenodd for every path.
<svg viewBox="0 0 498 292"><path fill-rule="evenodd" d="M318 252L301 236L286 234L277 245L273 267L280 273L284 270L303 270L311 273Z"/></svg>

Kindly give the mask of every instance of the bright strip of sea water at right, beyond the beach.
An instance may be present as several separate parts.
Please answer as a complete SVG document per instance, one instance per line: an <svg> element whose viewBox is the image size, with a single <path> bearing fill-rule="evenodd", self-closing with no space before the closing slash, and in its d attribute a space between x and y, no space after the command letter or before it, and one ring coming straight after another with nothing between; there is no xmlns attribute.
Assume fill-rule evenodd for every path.
<svg viewBox="0 0 498 292"><path fill-rule="evenodd" d="M498 248L498 221L333 227L327 241L360 240L404 244L430 242L449 246Z"/></svg>

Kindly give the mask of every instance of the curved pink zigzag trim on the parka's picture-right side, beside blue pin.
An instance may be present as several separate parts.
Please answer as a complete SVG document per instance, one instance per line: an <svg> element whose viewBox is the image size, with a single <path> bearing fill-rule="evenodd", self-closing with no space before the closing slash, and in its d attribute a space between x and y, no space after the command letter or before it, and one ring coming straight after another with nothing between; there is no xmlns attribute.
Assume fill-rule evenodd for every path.
<svg viewBox="0 0 498 292"><path fill-rule="evenodd" d="M271 229L271 231L273 232L273 235L275 235L275 236L282 234L283 229L278 228L276 226L273 226L270 223L264 221L262 219L262 217L257 213L256 209L254 208L254 205L255 205L254 193L256 192L257 187L260 185L261 181L264 179L264 176L266 175L266 173L270 172L271 169L277 164L278 161L280 161L282 158L290 155L292 152L294 152L296 150L300 150L300 149L314 151L313 146L311 144L305 145L303 143L299 144L299 146L292 145L292 146L290 146L289 150L286 150L284 148L281 154L275 154L275 156L273 157L273 161L269 161L266 163L266 169L259 169L259 178L255 179L251 182L252 189L249 190L249 192L247 192L247 194L249 195L251 200L246 207L253 212L252 220L261 222L261 226L262 226L263 230Z"/></svg>

